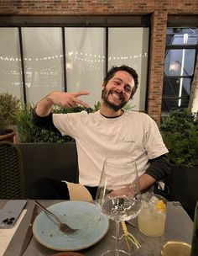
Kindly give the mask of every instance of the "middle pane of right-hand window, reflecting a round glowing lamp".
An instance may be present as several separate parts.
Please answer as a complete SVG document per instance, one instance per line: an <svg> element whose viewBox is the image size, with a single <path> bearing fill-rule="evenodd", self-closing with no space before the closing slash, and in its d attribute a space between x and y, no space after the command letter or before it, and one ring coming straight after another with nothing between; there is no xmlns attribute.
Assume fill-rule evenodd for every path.
<svg viewBox="0 0 198 256"><path fill-rule="evenodd" d="M164 73L166 76L192 76L195 65L195 50L166 51Z"/></svg>

